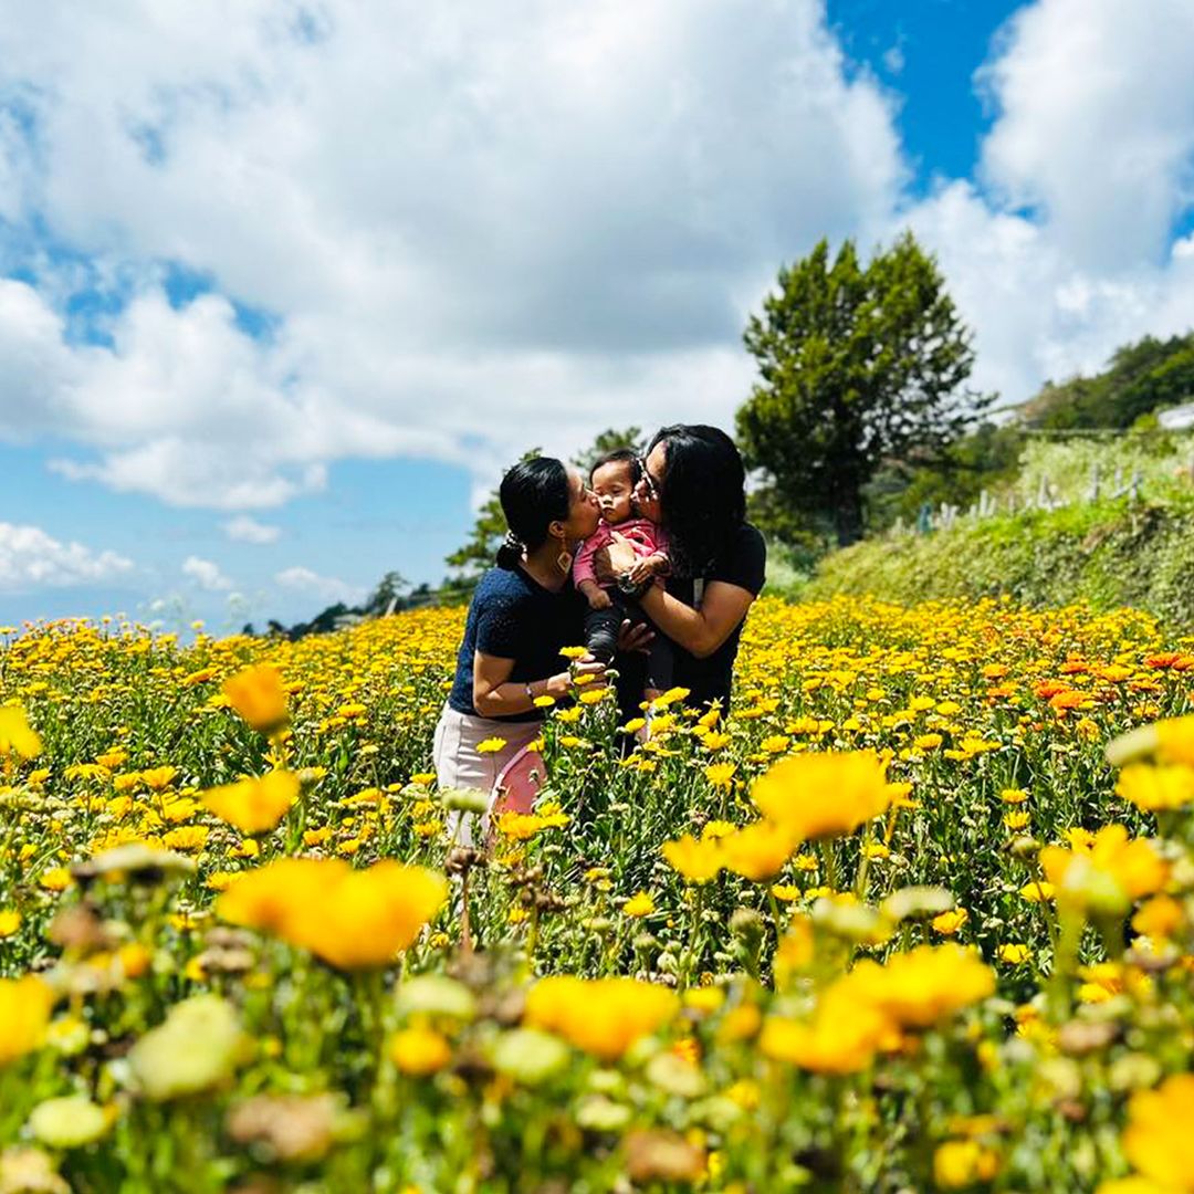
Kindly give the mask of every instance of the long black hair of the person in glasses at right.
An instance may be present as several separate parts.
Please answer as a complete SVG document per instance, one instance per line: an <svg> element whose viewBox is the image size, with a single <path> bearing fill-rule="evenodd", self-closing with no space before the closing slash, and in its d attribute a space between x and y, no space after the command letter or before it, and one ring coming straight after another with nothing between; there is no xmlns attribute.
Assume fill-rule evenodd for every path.
<svg viewBox="0 0 1194 1194"><path fill-rule="evenodd" d="M677 576L698 577L730 546L746 519L746 469L720 427L677 423L660 427L647 454L664 445L663 524Z"/></svg>

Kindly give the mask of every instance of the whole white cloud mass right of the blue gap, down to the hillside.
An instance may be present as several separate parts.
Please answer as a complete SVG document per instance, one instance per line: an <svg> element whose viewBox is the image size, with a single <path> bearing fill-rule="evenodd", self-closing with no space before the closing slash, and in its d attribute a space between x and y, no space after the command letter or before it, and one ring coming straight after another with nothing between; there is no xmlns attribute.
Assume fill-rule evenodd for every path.
<svg viewBox="0 0 1194 1194"><path fill-rule="evenodd" d="M1039 0L997 45L987 190L943 183L881 234L907 222L937 252L975 331L974 382L1022 401L1194 321L1194 257L1164 247L1194 199L1194 8Z"/></svg>

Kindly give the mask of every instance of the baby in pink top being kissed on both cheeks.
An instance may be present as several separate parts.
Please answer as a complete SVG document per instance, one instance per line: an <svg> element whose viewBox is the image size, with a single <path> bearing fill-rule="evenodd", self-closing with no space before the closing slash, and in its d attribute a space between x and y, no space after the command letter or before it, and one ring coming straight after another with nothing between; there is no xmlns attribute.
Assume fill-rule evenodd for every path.
<svg viewBox="0 0 1194 1194"><path fill-rule="evenodd" d="M663 577L670 571L667 536L661 527L640 518L634 505L634 486L639 482L641 466L629 448L621 448L602 456L593 464L589 481L601 503L602 521L590 535L572 565L572 579L589 602L585 616L585 646L595 659L609 663L617 648L617 632L622 620L648 621L638 603L627 597L616 581L602 584L597 579L593 556L614 541L617 531L639 559L639 572ZM644 696L653 701L671 688L672 653L669 640L656 630L651 642L647 681Z"/></svg>

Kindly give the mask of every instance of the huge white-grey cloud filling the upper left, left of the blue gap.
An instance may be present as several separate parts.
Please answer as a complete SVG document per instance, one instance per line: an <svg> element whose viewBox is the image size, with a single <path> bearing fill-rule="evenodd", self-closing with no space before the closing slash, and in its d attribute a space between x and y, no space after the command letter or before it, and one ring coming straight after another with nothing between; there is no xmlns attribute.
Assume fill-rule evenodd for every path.
<svg viewBox="0 0 1194 1194"><path fill-rule="evenodd" d="M13 219L87 260L21 294L47 361L0 402L63 475L227 510L347 456L488 482L528 439L727 421L745 308L904 170L817 0L48 0L0 27L0 96ZM219 294L176 309L166 261ZM80 270L128 298L101 347L63 339Z"/></svg>

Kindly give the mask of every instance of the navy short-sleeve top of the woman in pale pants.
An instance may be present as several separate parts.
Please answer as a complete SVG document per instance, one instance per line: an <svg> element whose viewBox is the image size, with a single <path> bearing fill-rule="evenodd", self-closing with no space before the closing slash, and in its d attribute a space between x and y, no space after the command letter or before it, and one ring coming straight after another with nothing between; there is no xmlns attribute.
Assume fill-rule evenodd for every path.
<svg viewBox="0 0 1194 1194"><path fill-rule="evenodd" d="M510 679L543 679L564 671L561 647L584 642L585 599L566 584L559 592L544 589L522 568L491 568L473 592L464 622L464 639L456 654L456 678L448 704L476 716L473 704L473 656L480 651L512 659ZM529 709L497 721L537 721L541 709Z"/></svg>

